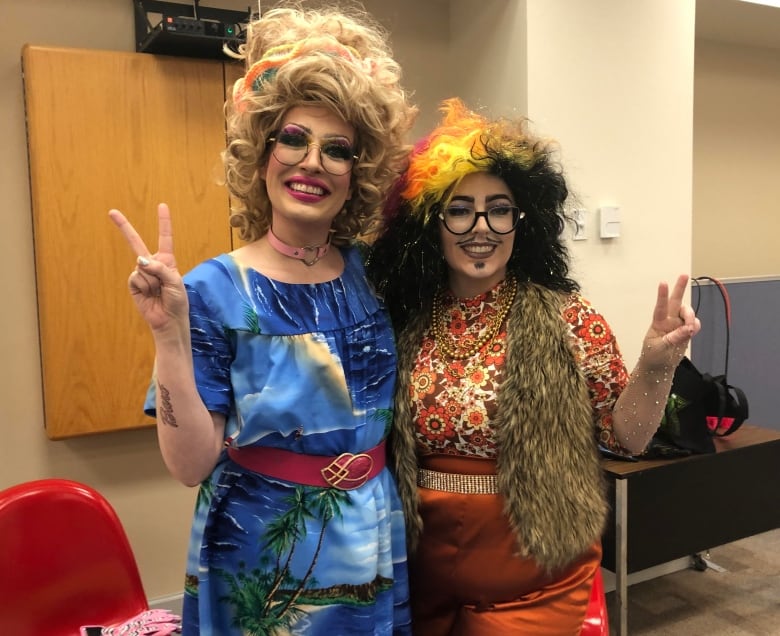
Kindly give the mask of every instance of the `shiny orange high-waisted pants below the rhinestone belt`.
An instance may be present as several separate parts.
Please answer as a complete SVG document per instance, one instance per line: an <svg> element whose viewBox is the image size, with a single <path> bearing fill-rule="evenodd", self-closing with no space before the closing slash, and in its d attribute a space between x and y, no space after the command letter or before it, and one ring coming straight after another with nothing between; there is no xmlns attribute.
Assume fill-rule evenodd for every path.
<svg viewBox="0 0 780 636"><path fill-rule="evenodd" d="M428 459L425 467L471 474L495 470L493 462L452 457ZM420 497L425 525L410 568L415 634L580 633L600 567L600 542L567 571L549 576L534 561L515 556L516 538L500 495L420 488Z"/></svg>

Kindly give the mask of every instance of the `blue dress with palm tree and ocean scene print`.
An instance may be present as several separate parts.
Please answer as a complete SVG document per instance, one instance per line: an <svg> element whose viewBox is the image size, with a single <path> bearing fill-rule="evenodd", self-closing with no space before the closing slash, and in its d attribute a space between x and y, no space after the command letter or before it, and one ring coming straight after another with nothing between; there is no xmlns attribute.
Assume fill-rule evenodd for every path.
<svg viewBox="0 0 780 636"><path fill-rule="evenodd" d="M343 274L326 283L280 283L229 255L184 277L195 378L227 418L226 445L336 456L386 437L393 334L359 252L342 254ZM222 453L196 502L184 634L410 634L408 605L387 468L338 490L265 477Z"/></svg>

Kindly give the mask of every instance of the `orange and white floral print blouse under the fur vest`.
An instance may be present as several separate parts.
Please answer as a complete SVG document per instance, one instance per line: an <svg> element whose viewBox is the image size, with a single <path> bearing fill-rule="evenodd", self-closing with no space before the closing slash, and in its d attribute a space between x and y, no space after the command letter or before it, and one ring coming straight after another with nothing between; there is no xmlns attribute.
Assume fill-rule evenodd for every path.
<svg viewBox="0 0 780 636"><path fill-rule="evenodd" d="M445 296L448 337L458 343L459 350L468 351L469 344L489 330L504 284L473 298ZM628 382L628 373L615 336L604 317L579 293L568 297L562 317L570 327L574 355L587 381L594 434L604 446L619 450L612 409ZM506 319L490 342L464 360L442 353L433 327L426 330L410 385L417 442L423 454L496 457L492 422L505 358Z"/></svg>

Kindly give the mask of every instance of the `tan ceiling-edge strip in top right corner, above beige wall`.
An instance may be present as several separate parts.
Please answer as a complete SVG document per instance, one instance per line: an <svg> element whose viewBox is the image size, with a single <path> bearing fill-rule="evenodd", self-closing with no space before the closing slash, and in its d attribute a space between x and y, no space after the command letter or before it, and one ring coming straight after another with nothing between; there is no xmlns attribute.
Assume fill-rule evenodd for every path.
<svg viewBox="0 0 780 636"><path fill-rule="evenodd" d="M696 38L780 49L780 9L741 0L696 0Z"/></svg>

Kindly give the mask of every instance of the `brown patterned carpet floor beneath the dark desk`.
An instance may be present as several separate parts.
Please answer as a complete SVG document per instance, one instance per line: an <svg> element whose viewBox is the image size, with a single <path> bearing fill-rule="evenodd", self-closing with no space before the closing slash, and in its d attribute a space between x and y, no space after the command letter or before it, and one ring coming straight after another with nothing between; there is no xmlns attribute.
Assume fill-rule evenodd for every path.
<svg viewBox="0 0 780 636"><path fill-rule="evenodd" d="M629 587L630 636L780 636L780 530L709 558L726 571L682 570ZM607 594L612 622L614 596Z"/></svg>

